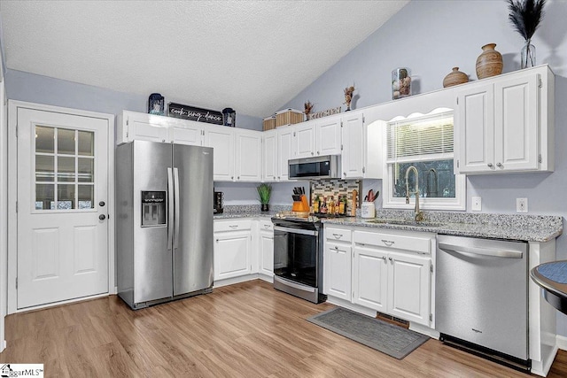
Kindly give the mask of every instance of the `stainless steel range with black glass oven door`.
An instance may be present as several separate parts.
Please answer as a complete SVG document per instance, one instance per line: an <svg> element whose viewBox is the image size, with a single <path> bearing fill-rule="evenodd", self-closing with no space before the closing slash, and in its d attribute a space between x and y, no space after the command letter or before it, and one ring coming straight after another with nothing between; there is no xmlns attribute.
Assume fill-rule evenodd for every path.
<svg viewBox="0 0 567 378"><path fill-rule="evenodd" d="M274 223L274 288L315 304L322 294L322 223L314 216L278 214Z"/></svg>

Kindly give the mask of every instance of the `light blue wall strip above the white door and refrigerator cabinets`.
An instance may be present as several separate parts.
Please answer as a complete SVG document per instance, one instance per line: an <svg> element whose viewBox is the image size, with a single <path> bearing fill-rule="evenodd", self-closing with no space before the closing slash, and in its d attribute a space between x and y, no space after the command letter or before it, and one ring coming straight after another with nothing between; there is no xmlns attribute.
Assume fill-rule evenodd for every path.
<svg viewBox="0 0 567 378"><path fill-rule="evenodd" d="M115 115L123 110L147 112L148 96L150 96L149 93L148 96L122 93L10 69L6 72L6 91L11 100ZM166 96L166 103L169 102L186 104L183 99L172 99ZM262 120L237 112L237 127L261 130Z"/></svg>

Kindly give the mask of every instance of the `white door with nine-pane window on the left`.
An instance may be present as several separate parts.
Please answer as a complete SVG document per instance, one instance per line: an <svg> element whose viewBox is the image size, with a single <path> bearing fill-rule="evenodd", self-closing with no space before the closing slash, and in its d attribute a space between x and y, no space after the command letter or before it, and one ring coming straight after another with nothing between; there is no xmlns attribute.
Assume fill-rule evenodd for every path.
<svg viewBox="0 0 567 378"><path fill-rule="evenodd" d="M108 120L17 117L18 309L108 292Z"/></svg>

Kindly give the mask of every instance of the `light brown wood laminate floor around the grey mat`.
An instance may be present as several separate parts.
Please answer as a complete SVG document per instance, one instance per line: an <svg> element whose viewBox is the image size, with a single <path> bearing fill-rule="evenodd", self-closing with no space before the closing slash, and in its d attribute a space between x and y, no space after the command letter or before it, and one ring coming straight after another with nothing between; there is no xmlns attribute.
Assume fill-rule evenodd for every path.
<svg viewBox="0 0 567 378"><path fill-rule="evenodd" d="M529 376L433 339L393 359L306 320L332 307L259 280L136 312L111 296L6 317L0 362L46 377ZM566 352L548 376L567 376Z"/></svg>

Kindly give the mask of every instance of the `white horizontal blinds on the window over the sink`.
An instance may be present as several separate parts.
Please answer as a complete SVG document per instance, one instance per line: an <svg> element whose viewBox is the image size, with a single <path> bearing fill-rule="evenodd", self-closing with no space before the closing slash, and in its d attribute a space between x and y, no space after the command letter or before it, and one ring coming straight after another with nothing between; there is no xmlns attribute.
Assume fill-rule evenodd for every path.
<svg viewBox="0 0 567 378"><path fill-rule="evenodd" d="M387 125L387 163L453 158L453 112Z"/></svg>

